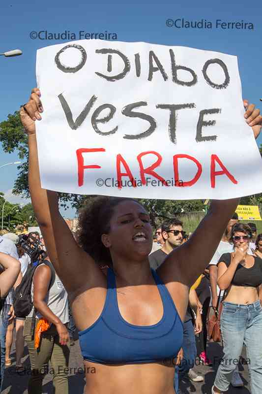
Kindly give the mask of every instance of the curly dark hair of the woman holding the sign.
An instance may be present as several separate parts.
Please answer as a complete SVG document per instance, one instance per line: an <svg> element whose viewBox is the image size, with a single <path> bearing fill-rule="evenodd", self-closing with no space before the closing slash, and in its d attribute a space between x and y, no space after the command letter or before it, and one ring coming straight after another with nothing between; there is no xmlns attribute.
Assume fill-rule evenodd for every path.
<svg viewBox="0 0 262 394"><path fill-rule="evenodd" d="M104 246L101 236L109 233L110 220L114 210L123 201L135 201L140 204L139 201L132 198L91 197L87 207L83 208L79 214L79 246L101 266L104 264L112 266L113 264L109 248Z"/></svg>

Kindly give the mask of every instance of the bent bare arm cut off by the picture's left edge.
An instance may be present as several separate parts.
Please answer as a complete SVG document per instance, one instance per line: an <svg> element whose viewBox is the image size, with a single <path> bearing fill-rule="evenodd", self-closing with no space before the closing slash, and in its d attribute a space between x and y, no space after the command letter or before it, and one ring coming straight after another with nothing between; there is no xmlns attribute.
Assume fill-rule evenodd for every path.
<svg viewBox="0 0 262 394"><path fill-rule="evenodd" d="M21 264L12 256L1 252L0 263L5 268L5 270L0 274L0 292L1 297L4 297L14 286L21 269Z"/></svg>

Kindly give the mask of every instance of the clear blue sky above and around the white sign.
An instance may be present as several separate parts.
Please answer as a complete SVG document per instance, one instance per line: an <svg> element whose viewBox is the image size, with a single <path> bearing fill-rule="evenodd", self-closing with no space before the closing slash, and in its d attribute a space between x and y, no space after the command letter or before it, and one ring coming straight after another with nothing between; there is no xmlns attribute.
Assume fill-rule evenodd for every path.
<svg viewBox="0 0 262 394"><path fill-rule="evenodd" d="M243 98L256 103L262 111L261 37L262 2L250 5L239 1L3 1L0 5L0 52L19 48L23 55L0 57L0 122L27 101L35 82L36 50L47 45L67 42L57 39L31 39L30 32L116 33L119 41L146 41L166 45L183 45L238 56ZM167 19L212 23L212 29L167 27ZM254 30L216 29L216 20L253 23ZM43 33L44 34L44 33ZM68 34L68 33L67 33ZM258 144L262 143L262 136ZM16 154L0 149L0 165L17 161ZM17 176L16 165L0 168L0 191L10 202L22 201L11 190ZM27 201L24 201L25 203ZM73 217L74 211L63 212Z"/></svg>

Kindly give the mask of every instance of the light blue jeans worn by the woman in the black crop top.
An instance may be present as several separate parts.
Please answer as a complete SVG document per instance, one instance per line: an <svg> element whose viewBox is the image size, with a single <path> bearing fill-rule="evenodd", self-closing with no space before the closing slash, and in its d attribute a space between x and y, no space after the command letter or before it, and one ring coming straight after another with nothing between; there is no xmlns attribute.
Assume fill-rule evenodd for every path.
<svg viewBox="0 0 262 394"><path fill-rule="evenodd" d="M221 334L224 357L219 367L214 385L222 392L227 391L246 345L247 365L252 394L261 394L262 388L262 306L260 300L252 304L223 302L221 314Z"/></svg>

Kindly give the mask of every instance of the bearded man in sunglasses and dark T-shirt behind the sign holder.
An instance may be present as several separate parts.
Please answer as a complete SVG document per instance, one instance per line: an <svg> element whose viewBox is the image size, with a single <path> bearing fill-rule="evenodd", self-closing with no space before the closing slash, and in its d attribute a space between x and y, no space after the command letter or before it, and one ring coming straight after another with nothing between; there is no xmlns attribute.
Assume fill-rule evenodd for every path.
<svg viewBox="0 0 262 394"><path fill-rule="evenodd" d="M165 258L171 253L176 247L182 244L183 237L185 236L185 231L183 231L183 223L176 219L169 219L165 221L162 226L162 236L165 241L163 247L149 255L149 263L151 268L157 269L165 260ZM201 332L202 330L202 319L199 310L199 300L195 290L190 290L189 293L190 306L193 308L197 320L196 329L194 331L193 316L191 313L190 306L186 311L184 319L184 329L183 329L183 360L180 365L176 366L175 372L175 393L181 394L179 389L180 381L183 377L188 374L188 377L194 382L203 382L204 378L198 375L193 370L195 364L195 359L197 356L196 338L195 334Z"/></svg>

